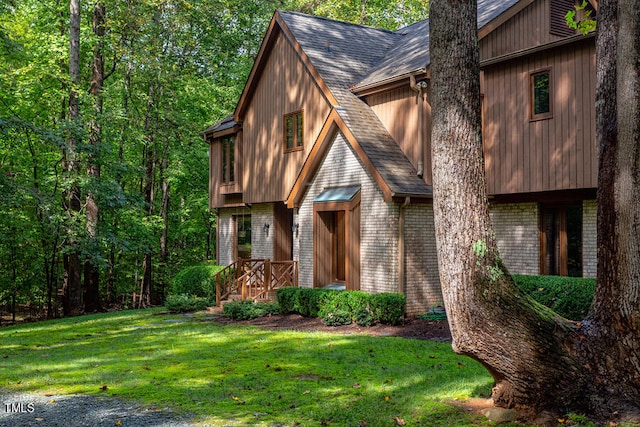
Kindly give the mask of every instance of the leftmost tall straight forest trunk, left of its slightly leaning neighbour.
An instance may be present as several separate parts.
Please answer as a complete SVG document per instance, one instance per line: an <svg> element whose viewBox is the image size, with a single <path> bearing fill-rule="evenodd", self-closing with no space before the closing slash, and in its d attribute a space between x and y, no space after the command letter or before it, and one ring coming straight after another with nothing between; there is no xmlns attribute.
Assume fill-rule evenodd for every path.
<svg viewBox="0 0 640 427"><path fill-rule="evenodd" d="M64 150L64 164L67 179L71 180L69 189L64 196L63 205L67 214L68 251L64 256L64 313L65 315L78 315L82 313L82 282L81 262L78 242L75 240L74 218L80 211L80 189L75 183L75 175L78 170L77 160L77 134L75 128L80 121L80 102L78 99L78 86L80 84L80 0L69 2L69 78L71 88L69 90L69 121L73 124L71 136L67 138L67 146Z"/></svg>

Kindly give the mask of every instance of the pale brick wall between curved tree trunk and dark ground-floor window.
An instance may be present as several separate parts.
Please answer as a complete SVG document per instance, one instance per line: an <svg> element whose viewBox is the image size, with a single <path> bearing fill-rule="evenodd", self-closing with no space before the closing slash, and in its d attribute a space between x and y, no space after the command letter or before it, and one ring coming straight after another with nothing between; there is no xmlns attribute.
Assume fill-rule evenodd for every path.
<svg viewBox="0 0 640 427"><path fill-rule="evenodd" d="M537 203L491 206L498 249L512 274L540 273L540 230Z"/></svg>

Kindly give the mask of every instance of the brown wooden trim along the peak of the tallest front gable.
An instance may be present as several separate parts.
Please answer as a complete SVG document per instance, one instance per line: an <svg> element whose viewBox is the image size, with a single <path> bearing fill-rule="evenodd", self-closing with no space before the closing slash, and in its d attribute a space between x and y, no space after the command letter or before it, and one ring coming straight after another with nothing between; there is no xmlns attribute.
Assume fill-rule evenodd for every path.
<svg viewBox="0 0 640 427"><path fill-rule="evenodd" d="M271 53L271 50L273 49L273 46L275 45L279 34L282 34L291 44L327 101L331 105L338 104L335 97L329 90L329 87L325 84L322 77L320 76L320 73L318 73L318 70L316 70L315 66L311 63L311 60L309 59L307 54L304 53L302 47L300 46L300 43L298 43L295 36L282 18L280 11L276 10L273 14L273 17L271 18L271 22L269 23L267 32L262 40L262 45L260 45L258 56L253 62L253 67L251 68L251 72L249 73L249 77L247 78L247 83L244 85L244 89L242 90L242 94L240 95L240 99L236 106L236 110L233 116L234 120L237 122L242 122L243 120L243 116L249 106L253 94L255 93L255 88L260 81L262 71L265 69L267 60L269 59L269 54Z"/></svg>

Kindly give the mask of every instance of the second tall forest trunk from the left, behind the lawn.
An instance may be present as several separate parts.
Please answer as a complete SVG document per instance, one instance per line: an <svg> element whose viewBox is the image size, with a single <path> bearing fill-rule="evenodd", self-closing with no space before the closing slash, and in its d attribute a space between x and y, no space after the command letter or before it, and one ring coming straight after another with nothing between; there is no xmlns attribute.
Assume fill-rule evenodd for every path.
<svg viewBox="0 0 640 427"><path fill-rule="evenodd" d="M99 152L102 140L102 88L104 86L104 57L102 45L105 34L105 8L100 2L93 7L93 33L97 44L93 49L93 67L91 71L90 92L94 99L95 117L89 128L89 145L92 148L88 156L87 176L97 184L100 179ZM97 232L99 207L93 189L87 192L86 198L87 233L94 243L91 252L98 250ZM100 271L94 257L89 256L84 263L84 309L86 312L100 310Z"/></svg>

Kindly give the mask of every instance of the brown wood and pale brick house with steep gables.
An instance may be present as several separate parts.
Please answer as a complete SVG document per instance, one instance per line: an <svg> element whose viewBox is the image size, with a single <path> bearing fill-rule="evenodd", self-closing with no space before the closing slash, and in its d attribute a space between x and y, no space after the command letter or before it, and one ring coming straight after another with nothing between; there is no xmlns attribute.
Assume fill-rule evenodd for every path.
<svg viewBox="0 0 640 427"><path fill-rule="evenodd" d="M480 0L491 217L518 274L595 276L595 42L572 0ZM590 5L594 10L597 5ZM298 261L299 286L441 301L429 22L276 11L233 115L204 132L218 262Z"/></svg>

